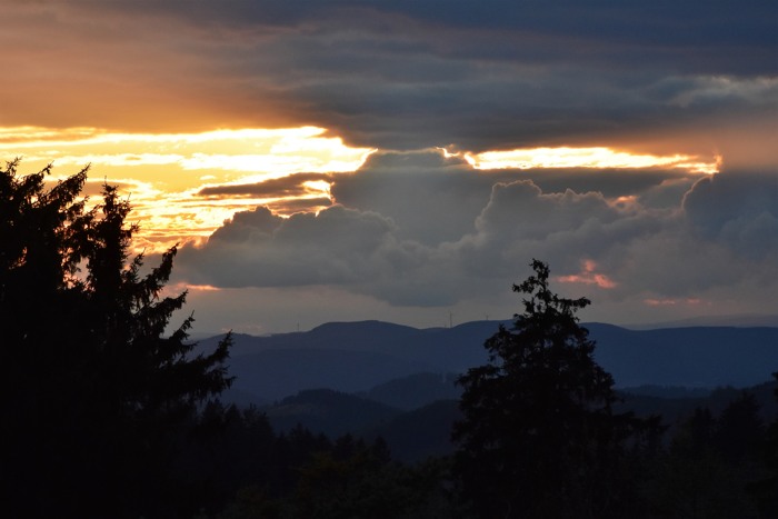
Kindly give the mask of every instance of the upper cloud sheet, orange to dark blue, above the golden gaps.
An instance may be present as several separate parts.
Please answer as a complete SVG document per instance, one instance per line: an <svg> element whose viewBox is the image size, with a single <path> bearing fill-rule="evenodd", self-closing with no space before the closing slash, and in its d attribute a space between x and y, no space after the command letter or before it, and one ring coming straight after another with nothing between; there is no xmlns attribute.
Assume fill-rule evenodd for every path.
<svg viewBox="0 0 778 519"><path fill-rule="evenodd" d="M700 139L714 127L747 130L776 116L774 8L759 0L9 9L6 123L174 131L313 123L369 148L483 151L638 147L647 134ZM725 144L708 140L694 150L686 139L668 142L690 154Z"/></svg>

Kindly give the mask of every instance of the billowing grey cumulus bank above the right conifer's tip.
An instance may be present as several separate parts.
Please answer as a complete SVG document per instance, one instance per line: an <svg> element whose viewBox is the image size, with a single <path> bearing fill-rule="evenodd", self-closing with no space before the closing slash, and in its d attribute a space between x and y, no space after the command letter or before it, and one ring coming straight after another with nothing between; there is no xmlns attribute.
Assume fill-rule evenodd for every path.
<svg viewBox="0 0 778 519"><path fill-rule="evenodd" d="M727 184L737 178L737 172L719 173L710 182ZM752 187L767 188L767 178ZM466 278L478 276L485 266L508 277L528 254L547 259L561 275L577 273L581 263L591 260L616 285L600 290L599 297L616 300L640 293L699 297L745 282L776 288L775 201L764 198L755 209L744 191L731 193L738 201L729 202L732 210L721 231L702 234L689 200L714 212L718 194L704 186L708 180L698 181L685 209L678 204L650 209L619 207L595 192L543 193L529 181L496 184L477 219L477 232L463 237L455 249L462 265L472 266ZM767 209L770 203L771 210Z"/></svg>

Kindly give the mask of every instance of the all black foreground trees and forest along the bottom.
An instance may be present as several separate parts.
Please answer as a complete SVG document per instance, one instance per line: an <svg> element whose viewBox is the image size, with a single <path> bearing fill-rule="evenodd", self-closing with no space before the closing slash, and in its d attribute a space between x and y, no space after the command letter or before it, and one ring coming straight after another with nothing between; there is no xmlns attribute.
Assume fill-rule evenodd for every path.
<svg viewBox="0 0 778 519"><path fill-rule="evenodd" d="M17 167L0 170L4 517L778 517L778 420L749 392L672 422L626 409L578 323L589 301L540 261L458 380L451 453L403 463L380 437L221 405L230 337L194 353L191 318L163 336L186 299L162 296L176 249L144 272L116 189L87 210L86 170L51 186Z"/></svg>

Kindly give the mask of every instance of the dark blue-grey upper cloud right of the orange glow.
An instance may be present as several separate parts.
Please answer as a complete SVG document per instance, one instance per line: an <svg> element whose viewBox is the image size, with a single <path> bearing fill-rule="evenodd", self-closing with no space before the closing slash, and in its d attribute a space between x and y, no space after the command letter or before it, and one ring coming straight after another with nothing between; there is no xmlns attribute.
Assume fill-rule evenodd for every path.
<svg viewBox="0 0 778 519"><path fill-rule="evenodd" d="M778 98L770 1L80 6L169 18L232 117L316 123L382 149L635 143L765 119Z"/></svg>

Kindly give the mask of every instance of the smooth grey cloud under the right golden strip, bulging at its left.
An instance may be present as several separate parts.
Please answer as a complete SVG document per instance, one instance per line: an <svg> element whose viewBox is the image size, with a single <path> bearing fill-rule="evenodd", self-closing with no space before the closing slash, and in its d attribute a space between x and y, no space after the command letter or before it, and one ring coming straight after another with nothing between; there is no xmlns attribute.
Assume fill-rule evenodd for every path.
<svg viewBox="0 0 778 519"><path fill-rule="evenodd" d="M331 192L347 207L373 210L391 218L402 238L438 244L457 241L475 230L476 218L498 182L527 180L546 193L565 193L570 189L611 199L646 193L647 207L677 207L686 189L671 186L680 182L690 187L694 180L687 176L679 170L650 169L478 171L461 159L446 159L437 150L377 152L358 172L338 176Z"/></svg>

